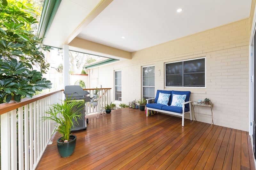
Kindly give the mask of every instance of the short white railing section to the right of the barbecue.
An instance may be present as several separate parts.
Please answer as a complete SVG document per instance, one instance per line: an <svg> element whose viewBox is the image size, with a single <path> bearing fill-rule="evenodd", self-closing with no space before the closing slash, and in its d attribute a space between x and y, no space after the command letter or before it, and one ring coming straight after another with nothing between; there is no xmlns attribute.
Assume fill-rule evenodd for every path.
<svg viewBox="0 0 256 170"><path fill-rule="evenodd" d="M100 89L100 92L98 93L98 98L96 99L98 100L97 106L94 107L93 104L90 102L85 104L86 115L90 115L92 113L99 113L100 109L103 110L103 107L105 107L107 104L110 105L110 89L111 88ZM93 96L95 89L84 89L84 90L89 92L90 93L89 95L91 97Z"/></svg>

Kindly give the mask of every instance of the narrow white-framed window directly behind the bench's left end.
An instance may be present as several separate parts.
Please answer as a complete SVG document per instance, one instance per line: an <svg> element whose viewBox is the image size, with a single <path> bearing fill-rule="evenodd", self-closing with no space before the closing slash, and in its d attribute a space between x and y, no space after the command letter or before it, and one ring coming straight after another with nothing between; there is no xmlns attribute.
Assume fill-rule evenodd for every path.
<svg viewBox="0 0 256 170"><path fill-rule="evenodd" d="M144 99L155 97L155 66L142 67L142 96Z"/></svg>

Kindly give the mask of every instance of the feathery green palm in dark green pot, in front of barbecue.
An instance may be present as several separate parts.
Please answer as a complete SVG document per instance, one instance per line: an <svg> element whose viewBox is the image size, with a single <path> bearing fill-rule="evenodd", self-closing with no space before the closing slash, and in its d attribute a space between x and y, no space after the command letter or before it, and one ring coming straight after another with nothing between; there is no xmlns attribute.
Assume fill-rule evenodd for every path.
<svg viewBox="0 0 256 170"><path fill-rule="evenodd" d="M45 112L49 114L48 117L42 117L43 121L52 120L56 122L56 129L53 133L58 131L62 135L57 140L57 148L63 158L70 156L75 150L76 136L71 135L71 127L74 127L74 123L78 124L77 119L82 118L78 108L83 105L84 101L81 100L70 100L70 98L64 101L61 100L61 104L53 104L50 106L50 110Z"/></svg>

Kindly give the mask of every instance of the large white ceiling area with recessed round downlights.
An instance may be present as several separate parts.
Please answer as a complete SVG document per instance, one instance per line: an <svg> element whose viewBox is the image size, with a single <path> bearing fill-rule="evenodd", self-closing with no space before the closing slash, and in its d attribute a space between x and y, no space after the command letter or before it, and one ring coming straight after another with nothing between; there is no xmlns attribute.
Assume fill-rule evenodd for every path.
<svg viewBox="0 0 256 170"><path fill-rule="evenodd" d="M114 0L77 37L133 52L247 18L251 1Z"/></svg>

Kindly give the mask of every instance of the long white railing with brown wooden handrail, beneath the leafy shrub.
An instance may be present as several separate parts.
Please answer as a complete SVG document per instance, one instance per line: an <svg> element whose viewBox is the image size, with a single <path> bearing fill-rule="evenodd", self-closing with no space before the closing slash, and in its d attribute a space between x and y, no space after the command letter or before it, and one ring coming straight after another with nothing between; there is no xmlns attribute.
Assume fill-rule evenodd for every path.
<svg viewBox="0 0 256 170"><path fill-rule="evenodd" d="M59 90L0 104L2 170L36 169L55 127L42 117L49 105L61 102L62 94Z"/></svg>

